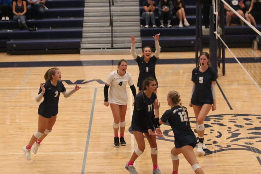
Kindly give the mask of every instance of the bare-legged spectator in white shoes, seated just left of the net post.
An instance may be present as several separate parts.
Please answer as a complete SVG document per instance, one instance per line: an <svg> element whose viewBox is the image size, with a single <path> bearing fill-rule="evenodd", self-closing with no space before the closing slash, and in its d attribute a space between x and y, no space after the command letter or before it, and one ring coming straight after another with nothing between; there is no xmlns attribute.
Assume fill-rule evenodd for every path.
<svg viewBox="0 0 261 174"><path fill-rule="evenodd" d="M182 19L184 19L184 25L189 26L189 22L186 19L186 13L185 13L185 1L184 0L174 0L174 13L176 14L176 17L180 19L179 27L183 27Z"/></svg>

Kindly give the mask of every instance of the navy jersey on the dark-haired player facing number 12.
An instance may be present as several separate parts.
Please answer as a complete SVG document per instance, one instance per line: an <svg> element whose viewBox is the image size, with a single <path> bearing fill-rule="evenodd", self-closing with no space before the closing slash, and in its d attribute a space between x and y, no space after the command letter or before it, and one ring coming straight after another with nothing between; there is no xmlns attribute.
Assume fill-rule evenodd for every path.
<svg viewBox="0 0 261 174"><path fill-rule="evenodd" d="M157 99L155 93L151 94L151 98L148 98L143 91L137 94L134 101L134 110L131 120L131 128L133 131L139 131L148 133L148 129L154 131L154 106L153 103ZM138 115L137 110L142 110L142 116Z"/></svg>

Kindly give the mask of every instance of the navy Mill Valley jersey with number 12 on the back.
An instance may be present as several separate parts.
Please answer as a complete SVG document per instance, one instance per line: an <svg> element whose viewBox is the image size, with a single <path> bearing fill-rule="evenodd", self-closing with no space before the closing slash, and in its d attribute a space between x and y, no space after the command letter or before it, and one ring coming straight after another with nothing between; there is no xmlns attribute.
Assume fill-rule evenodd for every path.
<svg viewBox="0 0 261 174"><path fill-rule="evenodd" d="M184 107L184 110L186 112L187 119L180 105L166 110L160 119L164 123L168 121L171 126L174 133L174 144L176 148L181 148L191 144L193 144L194 148L196 145L196 136L190 127L187 108ZM186 120L188 121L186 122Z"/></svg>

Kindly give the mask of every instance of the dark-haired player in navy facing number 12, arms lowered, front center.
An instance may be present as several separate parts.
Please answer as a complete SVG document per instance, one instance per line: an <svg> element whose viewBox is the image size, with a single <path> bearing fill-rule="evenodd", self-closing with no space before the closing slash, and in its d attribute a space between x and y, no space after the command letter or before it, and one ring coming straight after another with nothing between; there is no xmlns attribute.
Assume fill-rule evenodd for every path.
<svg viewBox="0 0 261 174"><path fill-rule="evenodd" d="M153 127L153 103L155 99L157 99L157 95L155 94L157 90L156 80L152 77L148 77L144 80L143 86L144 87L142 91L138 93L135 97L134 110L131 120L131 128L133 131L133 135L137 141L138 148L133 152L131 159L125 165L125 168L131 174L137 174L133 163L144 152L144 133L151 147L153 174L162 174L157 162L158 148L156 142L156 134ZM160 129L157 129L156 131L158 135L162 135Z"/></svg>

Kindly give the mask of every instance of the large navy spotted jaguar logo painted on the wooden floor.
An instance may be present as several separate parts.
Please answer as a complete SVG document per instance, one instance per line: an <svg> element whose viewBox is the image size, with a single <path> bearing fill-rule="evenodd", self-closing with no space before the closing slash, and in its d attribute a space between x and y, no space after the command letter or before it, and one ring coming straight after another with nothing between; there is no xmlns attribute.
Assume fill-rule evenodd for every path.
<svg viewBox="0 0 261 174"><path fill-rule="evenodd" d="M197 136L196 121L193 120L195 117L190 117L191 128ZM205 155L230 150L244 150L261 154L260 149L257 148L261 146L261 127L254 126L260 125L260 123L261 115L221 114L207 116L204 121L206 128L204 139L208 148L204 150ZM165 125L169 125L168 122ZM131 127L129 132L133 134ZM171 128L162 130L162 132L164 137L158 137L158 140L174 142Z"/></svg>

